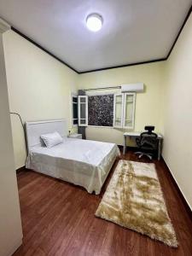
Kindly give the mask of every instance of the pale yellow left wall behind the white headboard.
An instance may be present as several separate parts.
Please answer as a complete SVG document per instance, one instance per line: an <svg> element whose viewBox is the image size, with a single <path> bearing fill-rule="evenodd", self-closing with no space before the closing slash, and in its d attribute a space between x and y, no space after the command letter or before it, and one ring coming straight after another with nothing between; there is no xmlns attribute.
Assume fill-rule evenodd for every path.
<svg viewBox="0 0 192 256"><path fill-rule="evenodd" d="M69 120L70 95L76 91L77 73L13 31L4 33L9 108L22 119ZM25 141L20 120L11 115L16 168L25 165Z"/></svg>

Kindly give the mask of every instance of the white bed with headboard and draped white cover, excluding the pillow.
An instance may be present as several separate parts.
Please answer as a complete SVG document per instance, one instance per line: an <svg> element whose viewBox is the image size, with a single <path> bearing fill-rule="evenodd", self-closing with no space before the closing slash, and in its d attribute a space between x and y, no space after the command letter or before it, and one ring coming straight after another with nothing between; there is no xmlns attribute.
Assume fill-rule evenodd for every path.
<svg viewBox="0 0 192 256"><path fill-rule="evenodd" d="M63 143L47 148L40 136L57 131ZM84 187L100 194L102 185L119 155L113 143L67 137L67 120L26 122L26 168Z"/></svg>

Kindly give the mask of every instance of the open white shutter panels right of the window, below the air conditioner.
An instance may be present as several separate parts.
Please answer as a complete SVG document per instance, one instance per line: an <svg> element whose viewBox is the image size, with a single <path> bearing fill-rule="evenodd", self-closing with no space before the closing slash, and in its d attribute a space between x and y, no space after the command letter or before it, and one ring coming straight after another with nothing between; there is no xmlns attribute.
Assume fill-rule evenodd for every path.
<svg viewBox="0 0 192 256"><path fill-rule="evenodd" d="M120 93L114 95L113 127L133 129L135 121L135 93Z"/></svg>

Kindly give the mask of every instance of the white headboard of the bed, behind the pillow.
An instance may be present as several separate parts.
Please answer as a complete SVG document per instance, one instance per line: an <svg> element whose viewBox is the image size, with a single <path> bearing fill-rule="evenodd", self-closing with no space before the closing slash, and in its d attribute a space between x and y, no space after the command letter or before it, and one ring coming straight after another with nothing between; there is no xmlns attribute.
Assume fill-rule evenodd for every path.
<svg viewBox="0 0 192 256"><path fill-rule="evenodd" d="M26 142L28 152L32 147L42 144L40 136L57 131L61 137L67 137L67 119L56 119L37 122L26 122Z"/></svg>

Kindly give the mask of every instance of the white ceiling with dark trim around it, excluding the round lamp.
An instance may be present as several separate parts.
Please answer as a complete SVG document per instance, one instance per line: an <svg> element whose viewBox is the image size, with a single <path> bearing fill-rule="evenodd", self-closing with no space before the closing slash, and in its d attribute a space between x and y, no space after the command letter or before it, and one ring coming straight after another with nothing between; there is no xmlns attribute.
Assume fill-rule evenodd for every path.
<svg viewBox="0 0 192 256"><path fill-rule="evenodd" d="M0 0L0 17L79 72L165 58L191 0ZM102 30L86 16L99 13Z"/></svg>

